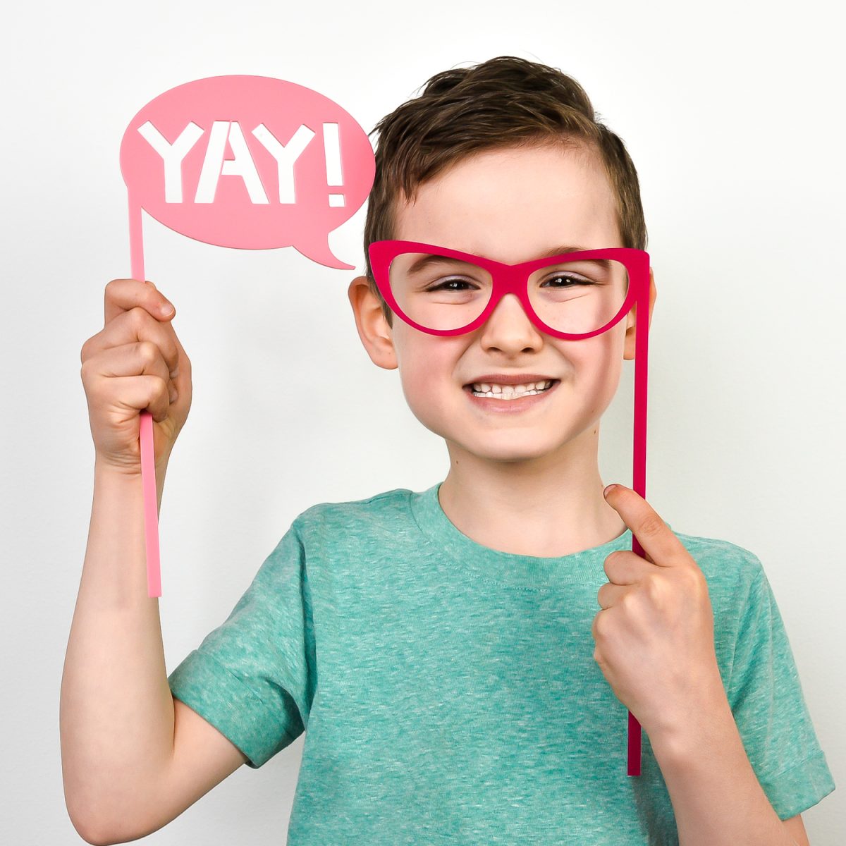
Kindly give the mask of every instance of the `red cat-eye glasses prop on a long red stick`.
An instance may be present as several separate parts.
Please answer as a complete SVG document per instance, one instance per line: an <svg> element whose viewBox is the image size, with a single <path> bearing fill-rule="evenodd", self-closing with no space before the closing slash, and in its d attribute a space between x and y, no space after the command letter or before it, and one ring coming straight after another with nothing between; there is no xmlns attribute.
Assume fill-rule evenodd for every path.
<svg viewBox="0 0 846 846"><path fill-rule="evenodd" d="M648 253L629 247L574 250L515 265L418 241L376 241L368 253L387 305L431 335L473 332L506 294L519 299L541 332L572 341L607 332L634 307L632 487L646 498ZM634 533L632 551L644 556ZM629 776L640 776L640 751L640 722L629 711Z"/></svg>

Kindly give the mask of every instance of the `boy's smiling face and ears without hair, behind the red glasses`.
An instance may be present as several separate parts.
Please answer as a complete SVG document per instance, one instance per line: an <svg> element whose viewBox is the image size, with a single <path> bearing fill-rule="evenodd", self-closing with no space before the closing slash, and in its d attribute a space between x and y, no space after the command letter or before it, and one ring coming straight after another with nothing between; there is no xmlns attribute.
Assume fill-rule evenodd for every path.
<svg viewBox="0 0 846 846"><path fill-rule="evenodd" d="M623 246L602 163L584 151L483 151L418 192L414 204L398 206L398 240L507 264L565 244L584 250ZM651 312L653 280L650 288ZM398 367L409 408L446 439L453 460L464 451L495 461L554 461L580 445L588 448L617 390L622 360L634 358L634 311L608 332L567 341L541 332L508 294L475 332L445 337L420 332L398 316L389 327L365 277L350 284L349 299L371 359ZM517 404L476 400L466 386L492 373L560 381Z"/></svg>

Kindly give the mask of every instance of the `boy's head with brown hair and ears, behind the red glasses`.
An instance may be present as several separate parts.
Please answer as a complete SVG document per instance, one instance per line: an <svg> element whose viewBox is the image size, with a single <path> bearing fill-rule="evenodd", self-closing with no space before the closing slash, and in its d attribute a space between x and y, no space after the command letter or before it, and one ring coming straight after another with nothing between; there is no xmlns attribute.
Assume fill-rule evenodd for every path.
<svg viewBox="0 0 846 846"><path fill-rule="evenodd" d="M623 142L596 122L575 80L508 56L436 74L422 96L376 129L365 276L349 286L371 359L399 368L415 416L451 451L540 458L577 436L585 441L591 430L596 435L593 424L613 398L620 362L634 358L633 314L601 335L567 341L540 332L508 294L474 332L433 336L393 316L367 248L380 240L420 241L507 264L563 244L643 250L640 189ZM651 302L654 296L652 283ZM530 407L503 399L494 409L476 402L468 387L492 373L555 382Z"/></svg>

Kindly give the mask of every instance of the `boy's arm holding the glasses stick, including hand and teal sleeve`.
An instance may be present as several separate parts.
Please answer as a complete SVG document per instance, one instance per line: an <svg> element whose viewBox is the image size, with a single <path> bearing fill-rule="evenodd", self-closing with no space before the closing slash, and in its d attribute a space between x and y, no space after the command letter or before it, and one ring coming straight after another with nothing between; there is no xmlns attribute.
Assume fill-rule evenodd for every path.
<svg viewBox="0 0 846 846"><path fill-rule="evenodd" d="M834 783L760 560L733 547L749 590L736 596L742 598L736 621L734 613L717 618L699 564L649 503L624 486L611 486L606 496L649 558L617 559L619 552L607 558L595 657L618 699L629 709L635 702L644 715L680 846L798 846L796 823L785 825L776 806L808 808ZM725 544L719 552L729 554ZM735 622L723 684L715 633ZM644 662L663 662L673 672L650 679L636 670ZM674 672L678 667L684 675Z"/></svg>

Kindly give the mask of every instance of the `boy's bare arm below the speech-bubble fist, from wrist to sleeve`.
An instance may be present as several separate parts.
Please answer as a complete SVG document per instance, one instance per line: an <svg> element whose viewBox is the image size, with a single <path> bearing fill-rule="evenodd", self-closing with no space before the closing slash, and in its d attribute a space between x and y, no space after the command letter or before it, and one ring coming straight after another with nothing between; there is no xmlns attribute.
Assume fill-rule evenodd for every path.
<svg viewBox="0 0 846 846"><path fill-rule="evenodd" d="M96 465L59 703L65 802L88 843L155 831L244 762L194 711L174 710L143 515L140 476Z"/></svg>

